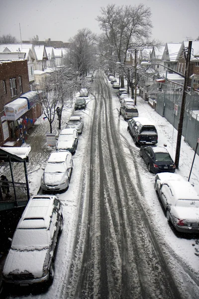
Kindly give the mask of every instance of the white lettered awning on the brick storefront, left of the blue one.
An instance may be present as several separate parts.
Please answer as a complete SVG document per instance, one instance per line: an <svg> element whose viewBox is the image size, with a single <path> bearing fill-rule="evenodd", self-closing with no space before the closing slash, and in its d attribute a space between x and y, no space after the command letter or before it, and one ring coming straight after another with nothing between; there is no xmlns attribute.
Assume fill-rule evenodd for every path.
<svg viewBox="0 0 199 299"><path fill-rule="evenodd" d="M16 121L20 116L28 111L26 99L16 99L4 106L4 113L7 121Z"/></svg>

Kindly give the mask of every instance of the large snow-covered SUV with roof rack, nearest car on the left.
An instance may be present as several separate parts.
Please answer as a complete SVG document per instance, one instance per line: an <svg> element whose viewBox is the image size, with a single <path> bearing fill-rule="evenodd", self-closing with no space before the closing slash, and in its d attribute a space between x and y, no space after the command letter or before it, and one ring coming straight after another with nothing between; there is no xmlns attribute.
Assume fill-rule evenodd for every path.
<svg viewBox="0 0 199 299"><path fill-rule="evenodd" d="M37 285L54 277L54 251L63 216L53 195L32 196L18 222L2 271L3 282Z"/></svg>

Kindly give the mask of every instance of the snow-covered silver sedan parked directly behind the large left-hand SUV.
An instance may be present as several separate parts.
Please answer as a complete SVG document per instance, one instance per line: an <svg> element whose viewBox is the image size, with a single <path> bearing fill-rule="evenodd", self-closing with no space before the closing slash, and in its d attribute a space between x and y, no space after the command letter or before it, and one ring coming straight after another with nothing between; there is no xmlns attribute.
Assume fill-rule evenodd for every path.
<svg viewBox="0 0 199 299"><path fill-rule="evenodd" d="M69 187L72 169L73 158L70 151L52 152L41 177L41 189L44 191L66 190Z"/></svg>

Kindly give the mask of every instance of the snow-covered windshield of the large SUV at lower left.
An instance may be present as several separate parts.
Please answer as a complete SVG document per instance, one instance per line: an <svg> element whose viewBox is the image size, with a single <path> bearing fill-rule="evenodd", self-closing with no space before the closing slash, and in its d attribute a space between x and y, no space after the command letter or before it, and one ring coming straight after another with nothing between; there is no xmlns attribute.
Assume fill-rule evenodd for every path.
<svg viewBox="0 0 199 299"><path fill-rule="evenodd" d="M49 234L46 228L17 229L11 245L11 248L15 250L42 250L48 247Z"/></svg>

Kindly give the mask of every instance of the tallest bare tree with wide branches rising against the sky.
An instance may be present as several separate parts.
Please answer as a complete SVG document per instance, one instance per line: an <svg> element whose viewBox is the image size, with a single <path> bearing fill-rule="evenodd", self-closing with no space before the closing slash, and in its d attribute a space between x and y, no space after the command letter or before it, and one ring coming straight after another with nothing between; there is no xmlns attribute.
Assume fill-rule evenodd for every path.
<svg viewBox="0 0 199 299"><path fill-rule="evenodd" d="M101 39L109 46L106 57L110 61L121 62L125 65L127 52L132 48L154 45L151 37L151 10L143 4L138 6L116 6L108 4L101 8L101 15L97 17L103 30ZM124 77L121 76L121 87L124 87Z"/></svg>

